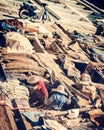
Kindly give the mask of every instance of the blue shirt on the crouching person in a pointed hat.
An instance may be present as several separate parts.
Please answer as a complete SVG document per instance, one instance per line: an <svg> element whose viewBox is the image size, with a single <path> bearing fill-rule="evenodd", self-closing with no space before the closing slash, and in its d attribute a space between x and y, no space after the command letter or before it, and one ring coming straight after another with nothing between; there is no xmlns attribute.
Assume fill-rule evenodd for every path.
<svg viewBox="0 0 104 130"><path fill-rule="evenodd" d="M54 92L46 102L47 108L61 110L61 108L67 102L67 100L68 98L64 94Z"/></svg>

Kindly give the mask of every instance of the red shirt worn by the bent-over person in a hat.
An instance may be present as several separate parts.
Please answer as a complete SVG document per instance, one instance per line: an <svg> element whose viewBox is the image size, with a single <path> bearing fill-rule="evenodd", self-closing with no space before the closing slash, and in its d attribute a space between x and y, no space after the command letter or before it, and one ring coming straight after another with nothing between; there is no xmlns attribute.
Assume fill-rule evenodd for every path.
<svg viewBox="0 0 104 130"><path fill-rule="evenodd" d="M37 83L35 87L37 87L37 89L35 90L35 93L38 96L38 98L43 99L43 100L48 98L48 91L42 80L39 80L39 82Z"/></svg>

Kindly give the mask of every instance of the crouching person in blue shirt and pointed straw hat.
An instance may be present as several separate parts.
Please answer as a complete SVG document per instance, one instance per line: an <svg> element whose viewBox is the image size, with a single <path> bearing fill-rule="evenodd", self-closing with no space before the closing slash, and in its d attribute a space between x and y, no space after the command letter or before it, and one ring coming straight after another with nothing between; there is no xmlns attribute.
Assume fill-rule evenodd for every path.
<svg viewBox="0 0 104 130"><path fill-rule="evenodd" d="M45 102L45 108L49 110L62 110L63 106L69 106L72 103L72 95L68 95L62 84L51 90L52 94ZM68 107L67 107L68 108Z"/></svg>

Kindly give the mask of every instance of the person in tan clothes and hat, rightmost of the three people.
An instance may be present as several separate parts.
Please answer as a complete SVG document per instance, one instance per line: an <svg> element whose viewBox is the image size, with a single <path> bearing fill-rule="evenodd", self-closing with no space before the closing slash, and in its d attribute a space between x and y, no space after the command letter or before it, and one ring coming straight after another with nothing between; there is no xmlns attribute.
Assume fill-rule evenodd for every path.
<svg viewBox="0 0 104 130"><path fill-rule="evenodd" d="M81 74L80 81L76 83L76 88L89 97L95 107L101 107L101 98L99 96L97 83L92 82L90 75L87 72ZM85 105L85 104L84 104Z"/></svg>

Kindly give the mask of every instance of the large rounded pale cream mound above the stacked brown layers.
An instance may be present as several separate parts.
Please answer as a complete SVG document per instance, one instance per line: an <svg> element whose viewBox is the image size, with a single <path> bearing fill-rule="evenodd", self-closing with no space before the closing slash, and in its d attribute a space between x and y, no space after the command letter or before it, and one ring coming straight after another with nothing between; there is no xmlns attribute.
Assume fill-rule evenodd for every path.
<svg viewBox="0 0 104 130"><path fill-rule="evenodd" d="M33 46L30 41L18 32L7 32L4 34L7 52L32 52Z"/></svg>

